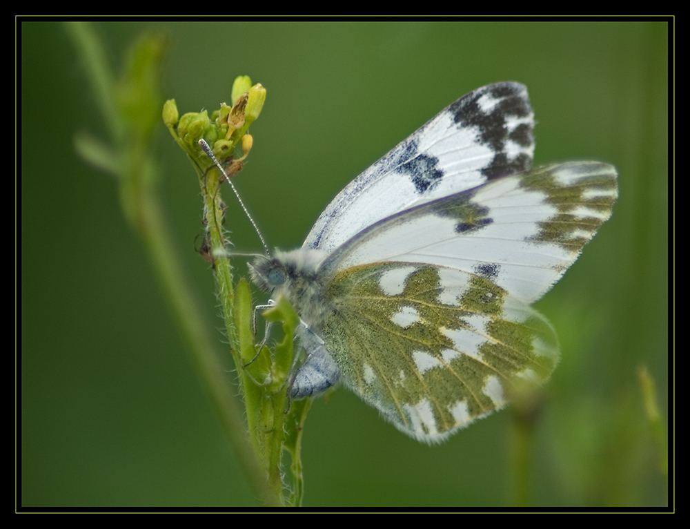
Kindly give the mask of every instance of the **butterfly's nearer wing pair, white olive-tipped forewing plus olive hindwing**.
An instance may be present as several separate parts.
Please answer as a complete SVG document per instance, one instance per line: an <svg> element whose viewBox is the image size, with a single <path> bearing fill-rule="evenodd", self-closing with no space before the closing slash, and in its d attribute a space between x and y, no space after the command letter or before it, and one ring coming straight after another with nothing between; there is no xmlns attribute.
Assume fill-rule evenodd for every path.
<svg viewBox="0 0 690 529"><path fill-rule="evenodd" d="M402 211L339 247L319 273L333 307L322 336L344 383L435 443L522 381L546 381L558 340L529 303L609 218L615 178L600 162L544 166Z"/></svg>

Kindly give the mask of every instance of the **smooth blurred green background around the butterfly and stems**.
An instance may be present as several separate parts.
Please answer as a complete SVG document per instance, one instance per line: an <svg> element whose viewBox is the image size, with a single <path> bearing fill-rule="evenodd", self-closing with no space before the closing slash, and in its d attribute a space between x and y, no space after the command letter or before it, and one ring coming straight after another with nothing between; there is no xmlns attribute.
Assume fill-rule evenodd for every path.
<svg viewBox="0 0 690 529"><path fill-rule="evenodd" d="M538 420L531 502L667 505L638 382L646 365L665 421L665 23L96 28L118 70L140 32L168 32L164 96L181 114L230 103L237 75L266 87L235 183L268 243L282 249L299 246L345 184L444 106L496 81L526 84L538 123L535 164L601 160L620 173L613 217L536 305L558 331L562 359ZM86 79L60 23L21 23L22 505L250 508L255 499L124 221L115 180L73 148L80 131L106 140ZM156 149L166 222L209 328L220 329L212 273L195 252L203 231L197 177L162 122ZM235 247L260 251L227 192L226 202ZM238 270L246 273L244 264ZM220 330L214 338L227 347ZM308 416L304 504L510 506L513 432L508 409L430 448L341 389Z"/></svg>

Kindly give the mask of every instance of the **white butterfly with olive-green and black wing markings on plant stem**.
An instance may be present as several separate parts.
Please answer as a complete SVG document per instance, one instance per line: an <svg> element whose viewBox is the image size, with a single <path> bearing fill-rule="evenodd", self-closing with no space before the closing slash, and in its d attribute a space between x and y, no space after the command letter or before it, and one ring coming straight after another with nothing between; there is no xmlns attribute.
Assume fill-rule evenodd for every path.
<svg viewBox="0 0 690 529"><path fill-rule="evenodd" d="M530 307L611 215L601 162L531 168L526 88L478 88L345 187L302 247L255 258L288 298L306 360L290 398L343 383L426 443L544 383L558 340Z"/></svg>

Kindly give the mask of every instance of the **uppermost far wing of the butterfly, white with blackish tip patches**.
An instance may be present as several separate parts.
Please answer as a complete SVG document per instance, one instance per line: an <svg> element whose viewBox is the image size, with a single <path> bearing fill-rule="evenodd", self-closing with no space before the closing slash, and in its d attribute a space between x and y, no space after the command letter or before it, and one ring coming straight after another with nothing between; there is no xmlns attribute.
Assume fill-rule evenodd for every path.
<svg viewBox="0 0 690 529"><path fill-rule="evenodd" d="M529 170L533 126L522 84L491 84L464 95L348 184L303 248L331 253L395 213Z"/></svg>

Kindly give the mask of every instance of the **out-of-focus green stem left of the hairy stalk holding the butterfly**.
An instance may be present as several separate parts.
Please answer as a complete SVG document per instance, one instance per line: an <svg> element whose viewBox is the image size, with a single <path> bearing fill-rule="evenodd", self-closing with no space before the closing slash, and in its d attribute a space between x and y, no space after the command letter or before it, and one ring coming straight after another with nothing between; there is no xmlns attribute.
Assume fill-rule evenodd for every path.
<svg viewBox="0 0 690 529"><path fill-rule="evenodd" d="M124 215L146 247L172 316L213 402L228 441L233 446L237 460L259 500L268 505L281 505L284 499L282 483L280 479L277 483L275 481L276 475L279 478L279 468L277 472L275 470L275 447L272 447L274 464L269 469L264 454L257 452L257 447L249 442L242 404L228 383L222 357L211 338L214 333L201 316L197 302L184 278L173 249L172 238L167 231L168 223L164 220L164 213L159 204L157 184L160 171L151 144L163 103L160 73L167 38L158 33L143 35L128 50L123 72L121 77L117 78L92 26L88 23L66 23L65 27L83 61L110 135L108 144L101 143L89 135L79 135L75 138L75 147L86 160L117 177ZM219 184L218 171L214 169L213 173L216 184ZM203 174L205 175L206 171ZM207 178L204 182L211 180L213 179ZM217 190L213 196L218 196ZM226 256L219 258L227 262L226 268L220 271L227 273L223 285L231 285L229 260ZM217 268L215 271L219 273ZM242 310L250 314L248 289L246 285L242 288L242 294L237 298L244 302ZM232 290L221 291L221 296L225 296L230 305L233 303ZM232 317L231 308L229 314ZM233 352L237 356L241 350L240 340L234 331L233 321L228 321L227 316L226 314L226 328L233 344ZM246 335L246 332L244 334ZM244 341L250 338L253 336L245 336ZM253 350L253 344L250 345ZM245 350L249 350L247 343L243 346ZM237 367L239 372L244 372L240 369L242 366ZM283 415L281 407L280 418ZM266 447L263 448L265 451ZM279 445L278 452L281 450L282 445ZM269 470L273 481L267 477ZM299 501L295 498L293 500Z"/></svg>

